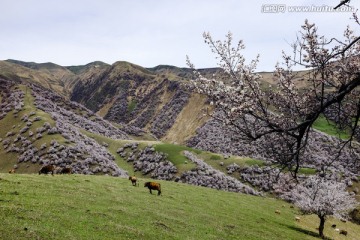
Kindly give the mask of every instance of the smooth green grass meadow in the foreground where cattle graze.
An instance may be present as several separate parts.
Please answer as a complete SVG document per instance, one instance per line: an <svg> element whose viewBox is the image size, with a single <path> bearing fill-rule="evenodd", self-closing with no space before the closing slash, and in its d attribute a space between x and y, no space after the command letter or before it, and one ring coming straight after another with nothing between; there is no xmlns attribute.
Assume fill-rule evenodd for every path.
<svg viewBox="0 0 360 240"><path fill-rule="evenodd" d="M316 239L316 219L295 222L282 201L165 181L162 196L150 195L144 181L0 174L0 239ZM341 237L332 223L329 237L360 234L342 223Z"/></svg>

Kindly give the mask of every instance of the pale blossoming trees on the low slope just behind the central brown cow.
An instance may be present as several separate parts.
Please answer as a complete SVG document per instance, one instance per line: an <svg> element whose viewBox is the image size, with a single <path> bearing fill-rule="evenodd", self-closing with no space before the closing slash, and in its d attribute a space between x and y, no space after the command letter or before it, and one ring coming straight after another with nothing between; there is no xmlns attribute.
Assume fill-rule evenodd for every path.
<svg viewBox="0 0 360 240"><path fill-rule="evenodd" d="M127 143L119 148L117 153L127 162L133 163L134 171L139 171L143 175L148 175L151 178L174 180L176 182L230 192L261 195L261 193L254 188L211 167L189 151L185 151L184 155L193 162L196 167L190 171L184 171L179 176L175 175L178 169L167 159L167 155L155 151L155 148L151 145L141 150L138 147L138 143Z"/></svg>

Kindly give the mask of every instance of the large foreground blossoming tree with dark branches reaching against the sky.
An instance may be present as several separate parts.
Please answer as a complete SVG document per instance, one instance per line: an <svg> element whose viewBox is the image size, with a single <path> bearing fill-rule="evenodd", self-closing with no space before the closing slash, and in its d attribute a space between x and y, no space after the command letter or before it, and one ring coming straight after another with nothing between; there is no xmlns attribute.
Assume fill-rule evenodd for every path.
<svg viewBox="0 0 360 240"><path fill-rule="evenodd" d="M356 15L354 19L358 23ZM221 71L204 77L187 58L194 70L192 87L209 97L221 112L216 118L236 129L239 139L258 141L267 159L287 168L296 178L311 154L307 148L314 122L331 112L337 127L349 135L331 146L337 149L336 154L329 154L323 172L335 160L359 159L359 151L342 155L344 148L353 146L355 138L360 139L360 37L354 36L350 28L341 41L327 40L318 34L315 24L306 20L292 45L293 53L283 53L284 63L276 65L273 85L264 84L256 73L259 56L245 63L244 43L234 45L231 33L224 41L213 40L209 33L203 37L219 60ZM299 76L294 66L307 69L306 74Z"/></svg>

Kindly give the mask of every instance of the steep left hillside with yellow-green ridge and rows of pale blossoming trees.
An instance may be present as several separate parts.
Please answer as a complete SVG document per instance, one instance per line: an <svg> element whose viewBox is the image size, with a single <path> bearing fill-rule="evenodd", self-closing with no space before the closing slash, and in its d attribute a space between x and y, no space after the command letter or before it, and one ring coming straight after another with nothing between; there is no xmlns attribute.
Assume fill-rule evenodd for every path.
<svg viewBox="0 0 360 240"><path fill-rule="evenodd" d="M83 131L110 138L128 135L81 105L43 87L0 79L0 171L33 173L39 165L71 166L75 173L127 173Z"/></svg>

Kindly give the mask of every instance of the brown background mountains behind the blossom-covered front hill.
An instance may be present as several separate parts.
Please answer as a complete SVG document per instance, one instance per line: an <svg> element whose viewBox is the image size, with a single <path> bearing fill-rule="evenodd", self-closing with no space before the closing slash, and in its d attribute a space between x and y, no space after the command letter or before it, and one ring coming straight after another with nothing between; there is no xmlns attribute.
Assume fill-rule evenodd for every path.
<svg viewBox="0 0 360 240"><path fill-rule="evenodd" d="M12 62L16 64L11 63L13 68L5 73L19 80L22 79L19 76L25 75L27 81L33 77L34 81L42 82L37 80L37 76L45 74L44 69L49 73L52 69L59 68L55 64ZM214 109L208 104L206 97L189 91L185 86L192 74L191 69L166 65L145 69L128 62L116 62L113 65L93 62L65 69L71 72L61 80L64 84L61 93L69 94L71 100L85 105L111 122L133 126L134 128L127 127L126 130L133 136L141 138L144 135L144 132L139 131L140 128L150 133L147 139L266 159L267 149L261 149L261 143L247 144L238 141L234 131L210 117ZM205 76L211 76L218 71L217 68L200 70ZM260 74L263 76L263 88L274 85L271 73ZM307 77L308 72L298 72L295 84L305 89L306 85L303 83L306 81L302 80ZM57 78L54 79L53 81L57 81ZM42 85L46 88L53 85L47 79L43 81L45 83ZM323 148L326 148L327 142L337 141L336 138L320 136L316 132L313 139L324 139L323 143L320 143ZM315 148L309 147L309 151L312 151L311 149ZM317 153L316 159L325 159L328 154L332 154L327 150L314 151ZM310 167L316 168L313 165Z"/></svg>

